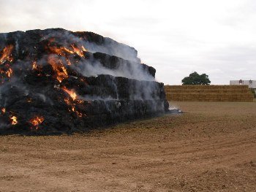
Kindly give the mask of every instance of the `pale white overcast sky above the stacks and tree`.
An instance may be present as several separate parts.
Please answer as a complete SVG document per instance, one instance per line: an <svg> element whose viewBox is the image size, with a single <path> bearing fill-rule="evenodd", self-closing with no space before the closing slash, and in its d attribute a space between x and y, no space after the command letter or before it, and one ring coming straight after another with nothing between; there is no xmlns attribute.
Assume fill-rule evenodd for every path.
<svg viewBox="0 0 256 192"><path fill-rule="evenodd" d="M157 80L256 80L254 0L0 0L0 32L93 31L135 47Z"/></svg>

